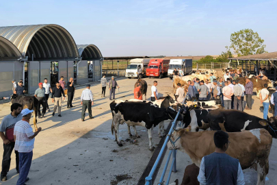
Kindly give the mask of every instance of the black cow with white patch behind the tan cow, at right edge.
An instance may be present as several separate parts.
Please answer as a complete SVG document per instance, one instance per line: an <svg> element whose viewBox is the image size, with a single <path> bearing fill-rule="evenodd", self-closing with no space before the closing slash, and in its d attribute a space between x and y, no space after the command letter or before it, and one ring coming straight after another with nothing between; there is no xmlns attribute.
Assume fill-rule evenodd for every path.
<svg viewBox="0 0 277 185"><path fill-rule="evenodd" d="M277 119L274 116L269 119L261 119L240 110L211 110L207 114L207 120L211 130L241 132L264 128L274 138L277 138Z"/></svg>

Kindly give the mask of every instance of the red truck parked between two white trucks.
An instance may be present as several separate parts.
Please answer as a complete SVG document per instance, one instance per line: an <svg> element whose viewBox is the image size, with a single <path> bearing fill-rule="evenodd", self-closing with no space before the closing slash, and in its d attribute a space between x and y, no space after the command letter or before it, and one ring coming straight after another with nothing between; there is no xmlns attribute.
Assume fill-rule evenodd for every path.
<svg viewBox="0 0 277 185"><path fill-rule="evenodd" d="M151 59L146 69L146 76L149 78L167 76L169 62L168 59Z"/></svg>

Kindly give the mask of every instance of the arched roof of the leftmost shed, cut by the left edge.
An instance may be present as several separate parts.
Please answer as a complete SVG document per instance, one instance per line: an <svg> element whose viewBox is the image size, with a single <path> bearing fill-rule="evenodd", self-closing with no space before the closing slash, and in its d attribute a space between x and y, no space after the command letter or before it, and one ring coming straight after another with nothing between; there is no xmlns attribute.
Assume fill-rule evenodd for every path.
<svg viewBox="0 0 277 185"><path fill-rule="evenodd" d="M0 60L22 58L21 52L8 39L0 36Z"/></svg>

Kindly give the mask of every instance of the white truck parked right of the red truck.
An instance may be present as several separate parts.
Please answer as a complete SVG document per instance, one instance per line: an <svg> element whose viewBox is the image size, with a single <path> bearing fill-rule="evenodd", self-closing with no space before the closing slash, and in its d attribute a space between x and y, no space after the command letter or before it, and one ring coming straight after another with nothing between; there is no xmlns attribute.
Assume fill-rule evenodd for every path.
<svg viewBox="0 0 277 185"><path fill-rule="evenodd" d="M173 78L174 68L183 70L184 75L192 73L192 59L171 59L168 67L168 77Z"/></svg>

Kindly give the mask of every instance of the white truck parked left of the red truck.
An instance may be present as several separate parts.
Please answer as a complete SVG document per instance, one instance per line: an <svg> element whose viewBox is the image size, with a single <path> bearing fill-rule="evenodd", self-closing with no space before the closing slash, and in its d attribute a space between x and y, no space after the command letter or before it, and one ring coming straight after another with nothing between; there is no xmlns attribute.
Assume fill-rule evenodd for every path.
<svg viewBox="0 0 277 185"><path fill-rule="evenodd" d="M126 68L125 77L146 77L146 68L150 58L135 58L130 60L130 64Z"/></svg>

